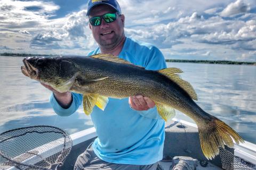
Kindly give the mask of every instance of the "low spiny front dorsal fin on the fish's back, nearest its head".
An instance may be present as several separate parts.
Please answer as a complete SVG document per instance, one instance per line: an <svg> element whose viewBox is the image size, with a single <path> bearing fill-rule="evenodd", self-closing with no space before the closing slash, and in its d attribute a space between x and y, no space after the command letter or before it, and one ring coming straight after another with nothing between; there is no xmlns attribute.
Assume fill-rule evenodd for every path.
<svg viewBox="0 0 256 170"><path fill-rule="evenodd" d="M119 58L117 56L111 55L111 54L95 54L91 56L92 58L99 58L101 60L107 60L109 62L114 62L114 63L121 63L121 64L129 64L129 65L134 65L134 66L138 66L135 64L130 63L129 61L126 61L122 58ZM141 66L138 66L141 67ZM143 68L143 67L141 67Z"/></svg>

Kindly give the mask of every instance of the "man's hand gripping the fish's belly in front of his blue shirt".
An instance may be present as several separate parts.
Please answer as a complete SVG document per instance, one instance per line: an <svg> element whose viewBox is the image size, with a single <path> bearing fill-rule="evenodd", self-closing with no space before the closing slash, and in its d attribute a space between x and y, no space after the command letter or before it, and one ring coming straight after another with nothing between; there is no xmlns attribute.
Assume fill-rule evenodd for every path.
<svg viewBox="0 0 256 170"><path fill-rule="evenodd" d="M141 95L129 97L129 104L136 111L147 111L149 108L155 107L153 100Z"/></svg>

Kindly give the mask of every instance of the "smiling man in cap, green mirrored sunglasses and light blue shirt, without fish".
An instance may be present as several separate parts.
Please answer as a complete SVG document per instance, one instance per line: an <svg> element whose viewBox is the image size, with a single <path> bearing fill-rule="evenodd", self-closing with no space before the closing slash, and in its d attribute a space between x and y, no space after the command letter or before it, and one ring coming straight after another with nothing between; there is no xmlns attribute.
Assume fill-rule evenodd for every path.
<svg viewBox="0 0 256 170"><path fill-rule="evenodd" d="M166 67L159 49L125 37L125 17L115 0L89 1L87 16L99 46L89 55L112 54L148 70ZM44 86L53 91L51 104L61 116L73 114L82 103L81 94L59 93ZM165 134L154 101L140 95L110 98L105 111L95 107L91 118L98 138L77 158L74 169L156 169Z"/></svg>

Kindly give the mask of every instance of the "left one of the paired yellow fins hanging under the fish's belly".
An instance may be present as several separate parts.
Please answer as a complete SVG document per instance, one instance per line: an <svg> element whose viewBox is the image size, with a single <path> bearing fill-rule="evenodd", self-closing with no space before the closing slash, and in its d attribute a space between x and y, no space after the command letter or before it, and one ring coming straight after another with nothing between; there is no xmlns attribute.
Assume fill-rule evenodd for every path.
<svg viewBox="0 0 256 170"><path fill-rule="evenodd" d="M92 113L92 109L97 103L99 95L96 94L84 94L83 96L83 106L84 113L86 115L90 115Z"/></svg>

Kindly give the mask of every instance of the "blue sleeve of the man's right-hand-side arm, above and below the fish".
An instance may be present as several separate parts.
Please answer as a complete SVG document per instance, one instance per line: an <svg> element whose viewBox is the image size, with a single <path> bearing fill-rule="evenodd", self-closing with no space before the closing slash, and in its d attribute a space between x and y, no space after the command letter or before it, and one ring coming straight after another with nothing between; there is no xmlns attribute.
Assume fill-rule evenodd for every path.
<svg viewBox="0 0 256 170"><path fill-rule="evenodd" d="M165 69L166 62L161 51L156 47L151 47L150 53L146 58L145 69L146 70L161 70ZM137 111L140 115L153 119L162 119L158 114L156 106L148 109L147 111Z"/></svg>

